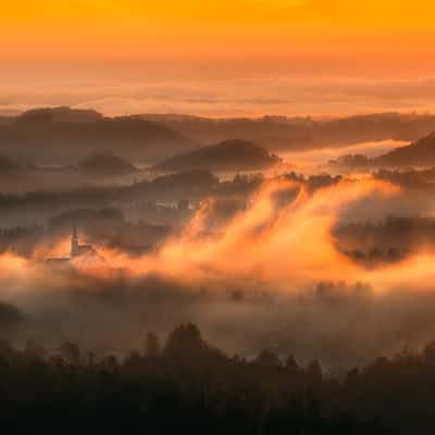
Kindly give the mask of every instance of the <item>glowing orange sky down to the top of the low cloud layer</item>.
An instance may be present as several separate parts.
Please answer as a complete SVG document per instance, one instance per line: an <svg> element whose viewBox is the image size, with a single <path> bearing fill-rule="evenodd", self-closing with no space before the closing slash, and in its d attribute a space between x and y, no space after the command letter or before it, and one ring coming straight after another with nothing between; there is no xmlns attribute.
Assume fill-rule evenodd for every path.
<svg viewBox="0 0 435 435"><path fill-rule="evenodd" d="M435 76L434 16L426 0L4 0L0 78L420 80Z"/></svg>

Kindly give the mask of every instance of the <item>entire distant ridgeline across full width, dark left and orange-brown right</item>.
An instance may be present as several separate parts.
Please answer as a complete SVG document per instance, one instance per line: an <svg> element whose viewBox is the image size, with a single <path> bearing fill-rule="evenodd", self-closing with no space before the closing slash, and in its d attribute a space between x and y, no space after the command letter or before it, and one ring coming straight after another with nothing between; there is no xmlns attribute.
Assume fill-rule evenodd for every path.
<svg viewBox="0 0 435 435"><path fill-rule="evenodd" d="M387 139L412 141L434 129L435 116L419 114L215 120L153 114L105 117L92 110L46 108L0 116L0 152L36 164L71 164L89 151L156 163L235 138L276 152Z"/></svg>

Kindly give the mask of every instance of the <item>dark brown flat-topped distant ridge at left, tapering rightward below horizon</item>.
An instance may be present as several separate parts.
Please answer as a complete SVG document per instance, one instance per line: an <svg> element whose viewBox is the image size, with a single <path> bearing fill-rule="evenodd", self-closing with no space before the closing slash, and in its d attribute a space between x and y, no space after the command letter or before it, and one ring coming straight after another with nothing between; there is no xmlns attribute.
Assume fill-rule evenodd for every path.
<svg viewBox="0 0 435 435"><path fill-rule="evenodd" d="M152 162L199 142L138 116L104 117L91 110L35 109L15 117L0 117L0 153L38 164L71 164L94 151L122 151L122 158Z"/></svg>

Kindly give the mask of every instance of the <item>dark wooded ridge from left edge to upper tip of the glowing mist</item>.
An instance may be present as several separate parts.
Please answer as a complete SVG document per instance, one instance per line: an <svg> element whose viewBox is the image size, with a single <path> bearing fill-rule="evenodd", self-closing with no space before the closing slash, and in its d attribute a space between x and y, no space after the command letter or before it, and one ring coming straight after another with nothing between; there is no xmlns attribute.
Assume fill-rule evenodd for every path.
<svg viewBox="0 0 435 435"><path fill-rule="evenodd" d="M310 190L327 187L341 179L331 175L304 177L294 172L284 177L306 183ZM80 208L110 208L114 204L144 203L145 201L200 201L209 197L247 197L256 191L261 174L236 175L232 181L220 181L210 171L192 170L159 176L127 186L86 186L72 190L35 190L25 194L0 192L0 210L26 212L36 210L63 210Z"/></svg>

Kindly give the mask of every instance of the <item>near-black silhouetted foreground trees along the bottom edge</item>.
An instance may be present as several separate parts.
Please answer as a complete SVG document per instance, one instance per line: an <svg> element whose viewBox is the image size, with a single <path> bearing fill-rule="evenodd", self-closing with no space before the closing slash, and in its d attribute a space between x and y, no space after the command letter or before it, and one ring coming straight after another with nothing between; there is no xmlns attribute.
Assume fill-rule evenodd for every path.
<svg viewBox="0 0 435 435"><path fill-rule="evenodd" d="M0 419L10 433L420 434L435 427L435 345L347 374L253 361L208 345L192 324L121 360L65 343L0 343ZM8 432L4 432L8 433Z"/></svg>

